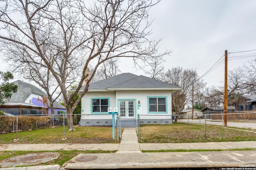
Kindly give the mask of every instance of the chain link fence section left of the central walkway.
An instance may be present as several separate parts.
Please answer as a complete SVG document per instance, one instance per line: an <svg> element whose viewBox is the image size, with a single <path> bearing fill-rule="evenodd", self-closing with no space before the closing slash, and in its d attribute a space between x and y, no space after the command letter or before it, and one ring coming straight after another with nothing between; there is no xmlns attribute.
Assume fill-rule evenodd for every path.
<svg viewBox="0 0 256 170"><path fill-rule="evenodd" d="M0 143L118 143L120 140L118 115L72 115L75 131L69 131L67 116L0 116Z"/></svg>

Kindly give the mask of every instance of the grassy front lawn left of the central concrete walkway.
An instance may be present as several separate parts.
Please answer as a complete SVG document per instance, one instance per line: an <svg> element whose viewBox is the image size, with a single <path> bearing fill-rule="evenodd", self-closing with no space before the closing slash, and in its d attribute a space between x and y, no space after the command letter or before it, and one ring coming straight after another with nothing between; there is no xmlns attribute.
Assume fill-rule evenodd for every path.
<svg viewBox="0 0 256 170"><path fill-rule="evenodd" d="M118 143L112 139L112 127L74 127L76 131L68 131L65 128L65 141L63 127L52 127L32 131L18 132L19 139L16 144L36 143ZM116 134L115 134L116 137ZM0 135L0 144L11 144L16 139L16 133Z"/></svg>

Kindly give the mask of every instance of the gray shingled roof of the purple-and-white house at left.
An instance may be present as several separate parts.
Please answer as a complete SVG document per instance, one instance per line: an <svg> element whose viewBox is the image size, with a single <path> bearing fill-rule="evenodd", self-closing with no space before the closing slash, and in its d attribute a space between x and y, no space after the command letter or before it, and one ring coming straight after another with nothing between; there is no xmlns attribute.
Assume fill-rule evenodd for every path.
<svg viewBox="0 0 256 170"><path fill-rule="evenodd" d="M36 94L38 96L47 96L42 90L37 88L36 86L23 82L21 80L17 80L14 82L18 86L18 90L16 93L12 95L8 103L24 103L25 100L30 96L30 94ZM59 104L58 102L53 102L54 108L58 109L66 109L64 106Z"/></svg>

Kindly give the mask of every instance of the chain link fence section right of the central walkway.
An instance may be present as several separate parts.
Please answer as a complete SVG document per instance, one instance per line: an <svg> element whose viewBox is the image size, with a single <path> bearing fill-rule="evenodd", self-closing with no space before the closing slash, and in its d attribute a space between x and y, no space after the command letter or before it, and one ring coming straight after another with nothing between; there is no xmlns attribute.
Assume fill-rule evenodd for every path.
<svg viewBox="0 0 256 170"><path fill-rule="evenodd" d="M256 112L138 115L138 138L142 143L256 141Z"/></svg>

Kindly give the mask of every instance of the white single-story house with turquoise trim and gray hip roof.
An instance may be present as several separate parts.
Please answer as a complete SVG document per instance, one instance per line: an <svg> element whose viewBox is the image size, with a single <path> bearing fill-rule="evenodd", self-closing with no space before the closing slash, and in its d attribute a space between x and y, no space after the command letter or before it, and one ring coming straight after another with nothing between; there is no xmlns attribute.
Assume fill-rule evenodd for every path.
<svg viewBox="0 0 256 170"><path fill-rule="evenodd" d="M178 90L178 86L131 73L94 82L81 100L81 125L112 125L108 107L118 107L121 123L124 120L136 123L138 114L148 115L140 119L142 123L172 123L172 93ZM164 115L170 115L168 120Z"/></svg>

